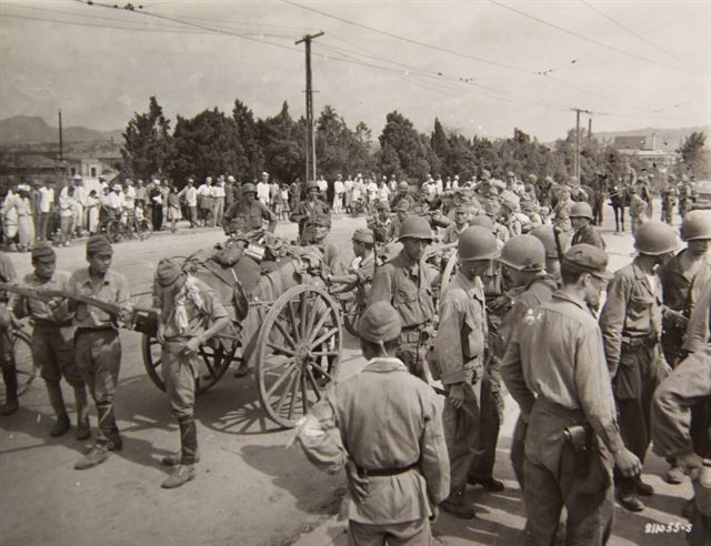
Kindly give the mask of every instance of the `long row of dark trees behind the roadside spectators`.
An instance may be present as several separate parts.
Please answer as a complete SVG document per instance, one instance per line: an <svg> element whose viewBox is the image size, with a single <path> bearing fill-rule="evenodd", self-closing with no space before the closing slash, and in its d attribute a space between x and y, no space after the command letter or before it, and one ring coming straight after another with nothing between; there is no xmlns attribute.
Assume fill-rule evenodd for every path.
<svg viewBox="0 0 711 546"><path fill-rule="evenodd" d="M304 118L294 120L287 102L276 115L258 119L240 100L234 101L231 114L214 108L194 118L178 115L171 130L170 120L151 97L148 111L136 113L123 132L123 174L143 180L168 176L182 186L189 176L202 180L229 173L247 182L267 171L279 181L292 182L303 178L306 132ZM693 148L692 155L699 143L703 148L703 133L694 133L687 139L684 146ZM683 153L684 146L680 152ZM487 169L494 176L513 171L520 176L550 175L563 181L573 175L575 132L570 130L565 139L548 146L520 129L509 139L469 139L435 119L432 132L427 134L393 111L387 114L385 125L374 141L365 123L351 129L333 107L327 105L316 120L316 152L318 173L327 180L357 173L394 174L411 182L422 181L428 174L467 180ZM629 166L643 165L633 156L621 155L609 143L582 139L583 181L598 173L622 178ZM701 161L700 169L703 166Z"/></svg>

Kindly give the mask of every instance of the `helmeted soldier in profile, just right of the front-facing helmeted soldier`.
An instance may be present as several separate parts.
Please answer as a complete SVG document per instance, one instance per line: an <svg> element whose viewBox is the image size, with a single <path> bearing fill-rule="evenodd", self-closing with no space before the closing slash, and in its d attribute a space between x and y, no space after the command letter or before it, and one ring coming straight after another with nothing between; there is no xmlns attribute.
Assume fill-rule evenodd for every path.
<svg viewBox="0 0 711 546"><path fill-rule="evenodd" d="M474 385L481 380L487 348L487 313L482 277L499 255L497 239L485 228L472 226L459 237L460 269L440 300L440 326L433 346L433 374L447 393L444 434L449 452L450 495L442 508L472 518L465 503L467 474L480 426Z"/></svg>

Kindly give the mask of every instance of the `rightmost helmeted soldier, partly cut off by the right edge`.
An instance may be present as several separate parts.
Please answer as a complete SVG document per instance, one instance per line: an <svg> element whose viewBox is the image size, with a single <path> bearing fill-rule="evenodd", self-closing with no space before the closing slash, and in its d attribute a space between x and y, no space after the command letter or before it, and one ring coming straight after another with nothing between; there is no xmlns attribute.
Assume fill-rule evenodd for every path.
<svg viewBox="0 0 711 546"><path fill-rule="evenodd" d="M711 284L711 211L691 211L681 224L681 237L687 247L659 267L662 282L662 350L672 368L684 356L683 344L689 323L704 286ZM683 475L670 459L667 482L680 484Z"/></svg>

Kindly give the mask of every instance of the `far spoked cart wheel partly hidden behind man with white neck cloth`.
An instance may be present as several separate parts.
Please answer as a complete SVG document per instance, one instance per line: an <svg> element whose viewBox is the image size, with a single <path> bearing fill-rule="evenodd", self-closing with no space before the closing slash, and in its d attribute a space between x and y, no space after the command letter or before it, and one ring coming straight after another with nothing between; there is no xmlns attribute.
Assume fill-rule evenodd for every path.
<svg viewBox="0 0 711 546"><path fill-rule="evenodd" d="M227 350L217 340L201 345L200 367L198 368L198 378L196 380L196 395L200 395L210 390L227 372L230 364L234 360L234 353L238 348L237 342L226 343ZM217 347L217 348L214 348ZM143 334L143 366L151 381L161 391L166 391L166 382L161 371L161 347L156 337Z"/></svg>

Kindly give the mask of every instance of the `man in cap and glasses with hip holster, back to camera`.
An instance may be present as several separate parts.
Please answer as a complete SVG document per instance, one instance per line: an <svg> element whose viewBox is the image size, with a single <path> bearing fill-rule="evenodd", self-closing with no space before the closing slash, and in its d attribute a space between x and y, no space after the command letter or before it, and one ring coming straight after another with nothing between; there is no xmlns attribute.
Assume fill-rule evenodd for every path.
<svg viewBox="0 0 711 546"><path fill-rule="evenodd" d="M589 310L600 303L607 264L600 249L572 246L562 287L527 312L503 358L507 387L529 424L525 544L552 544L563 506L567 544L604 544L614 509L610 454L624 476L641 468L615 421L600 327Z"/></svg>

